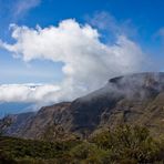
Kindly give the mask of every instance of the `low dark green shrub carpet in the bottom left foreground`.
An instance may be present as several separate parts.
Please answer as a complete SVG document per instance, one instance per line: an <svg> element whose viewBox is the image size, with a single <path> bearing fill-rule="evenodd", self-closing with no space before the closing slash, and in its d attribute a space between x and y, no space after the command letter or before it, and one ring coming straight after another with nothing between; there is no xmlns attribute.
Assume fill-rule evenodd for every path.
<svg viewBox="0 0 164 164"><path fill-rule="evenodd" d="M0 137L0 151L12 155L14 158L58 158L76 144L79 144L79 142L75 141L52 143L4 136Z"/></svg>

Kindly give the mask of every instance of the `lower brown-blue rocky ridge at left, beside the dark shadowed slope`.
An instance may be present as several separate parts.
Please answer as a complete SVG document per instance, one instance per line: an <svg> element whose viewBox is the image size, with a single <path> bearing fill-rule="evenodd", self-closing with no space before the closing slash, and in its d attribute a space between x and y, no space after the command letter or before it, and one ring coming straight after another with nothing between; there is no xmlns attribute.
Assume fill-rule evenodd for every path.
<svg viewBox="0 0 164 164"><path fill-rule="evenodd" d="M63 126L69 130L70 112L69 102L41 107L37 113L9 115L12 120L4 134L24 139L42 139L49 126Z"/></svg>

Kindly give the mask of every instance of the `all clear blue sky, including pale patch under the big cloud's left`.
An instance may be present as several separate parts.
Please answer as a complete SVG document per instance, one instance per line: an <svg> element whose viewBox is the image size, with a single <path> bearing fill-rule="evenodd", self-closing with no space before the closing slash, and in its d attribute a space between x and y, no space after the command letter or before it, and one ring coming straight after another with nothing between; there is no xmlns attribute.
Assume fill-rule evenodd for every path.
<svg viewBox="0 0 164 164"><path fill-rule="evenodd" d="M129 20L132 28L136 30L133 39L137 40L145 51L154 53L154 58L163 55L163 40L157 35L158 30L164 27L164 1L162 0L42 0L14 16L17 3L19 0L14 2L0 0L0 38L3 41L13 41L8 30L10 23L28 27L40 24L43 28L55 25L68 18L75 18L79 22L85 23L88 17L92 18L96 12L105 11L119 22ZM44 68L47 71L42 69L44 64L49 65ZM30 65L33 66L34 72L30 73L30 66L1 50L0 83L53 82L62 79L61 63L38 61ZM43 73L41 76L40 71L49 72L49 74Z"/></svg>

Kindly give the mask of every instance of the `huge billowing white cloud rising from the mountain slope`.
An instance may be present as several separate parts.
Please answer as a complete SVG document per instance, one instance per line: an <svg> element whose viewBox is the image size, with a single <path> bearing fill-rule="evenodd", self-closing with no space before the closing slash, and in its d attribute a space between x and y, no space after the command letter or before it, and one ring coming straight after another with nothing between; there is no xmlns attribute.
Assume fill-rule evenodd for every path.
<svg viewBox="0 0 164 164"><path fill-rule="evenodd" d="M63 63L64 80L59 84L59 90L52 90L53 94L48 94L54 101L75 99L102 86L111 76L142 70L144 53L140 45L123 34L116 35L116 41L109 45L101 41L96 29L80 24L73 19L44 29L39 25L30 29L16 24L11 29L16 42L9 44L1 41L0 47L14 57L25 62L44 59ZM25 95L31 92L27 88L22 90ZM11 96L14 96L14 93L10 98L3 98L3 94L4 91L0 92L0 100L3 101L12 101ZM21 100L28 101L28 96Z"/></svg>

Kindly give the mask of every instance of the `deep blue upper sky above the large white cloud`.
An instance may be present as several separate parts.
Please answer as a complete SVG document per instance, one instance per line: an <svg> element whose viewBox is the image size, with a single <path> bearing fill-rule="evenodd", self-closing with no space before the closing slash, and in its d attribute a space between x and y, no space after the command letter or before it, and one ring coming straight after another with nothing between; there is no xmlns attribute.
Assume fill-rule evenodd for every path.
<svg viewBox="0 0 164 164"><path fill-rule="evenodd" d="M0 0L1 38L9 39L8 27L13 22L28 27L47 27L68 18L85 22L86 16L92 17L101 11L109 12L117 21L131 20L133 25L140 29L143 42L146 39L151 41L152 35L164 25L162 0L37 0L39 2L35 7L21 11L16 17L13 12L17 1L19 2Z"/></svg>

